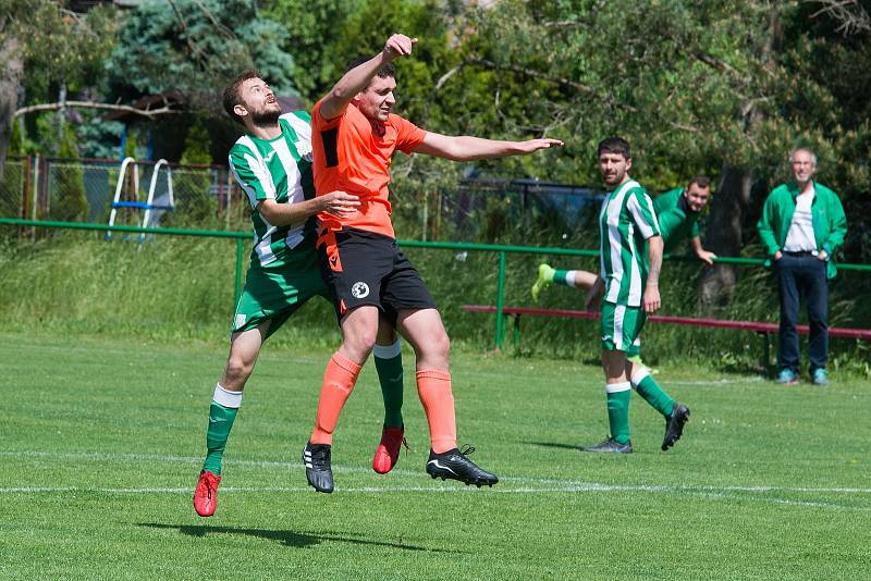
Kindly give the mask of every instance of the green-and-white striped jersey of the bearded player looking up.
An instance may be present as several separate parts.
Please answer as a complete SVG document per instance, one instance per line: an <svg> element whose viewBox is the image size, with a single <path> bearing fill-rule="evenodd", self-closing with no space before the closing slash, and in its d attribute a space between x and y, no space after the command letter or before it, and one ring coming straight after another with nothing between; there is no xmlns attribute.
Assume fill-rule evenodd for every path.
<svg viewBox="0 0 871 581"><path fill-rule="evenodd" d="M252 267L281 267L287 254L315 232L316 218L305 224L273 226L257 211L261 200L296 203L315 197L311 173L311 118L305 111L279 118L281 135L258 139L243 135L230 149L230 169L252 205Z"/></svg>

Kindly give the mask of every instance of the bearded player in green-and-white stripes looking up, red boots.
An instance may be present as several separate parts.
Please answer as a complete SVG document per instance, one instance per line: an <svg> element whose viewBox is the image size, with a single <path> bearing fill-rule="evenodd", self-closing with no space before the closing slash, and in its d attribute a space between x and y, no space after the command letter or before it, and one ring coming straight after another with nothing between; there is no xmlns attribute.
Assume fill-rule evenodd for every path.
<svg viewBox="0 0 871 581"><path fill-rule="evenodd" d="M209 409L208 448L194 507L209 517L218 505L221 460L245 383L263 342L315 296L328 297L315 250L319 212L348 215L357 196L329 191L315 197L311 125L305 111L281 113L272 90L257 71L240 75L225 90L228 114L245 126L230 149L230 166L252 206L254 250L230 336L230 357ZM394 343L395 342L395 343ZM402 357L392 329L378 345L391 355L376 362L382 390L402 394ZM402 424L402 417L396 420Z"/></svg>

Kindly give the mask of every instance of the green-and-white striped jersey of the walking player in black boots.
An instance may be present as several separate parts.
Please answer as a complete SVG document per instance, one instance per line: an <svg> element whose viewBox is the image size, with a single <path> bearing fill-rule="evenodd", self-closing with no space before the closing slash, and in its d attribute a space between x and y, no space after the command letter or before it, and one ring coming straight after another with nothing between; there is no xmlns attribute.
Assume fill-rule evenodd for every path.
<svg viewBox="0 0 871 581"><path fill-rule="evenodd" d="M647 239L660 234L653 202L635 180L605 196L599 213L600 276L604 300L640 307L650 269Z"/></svg>

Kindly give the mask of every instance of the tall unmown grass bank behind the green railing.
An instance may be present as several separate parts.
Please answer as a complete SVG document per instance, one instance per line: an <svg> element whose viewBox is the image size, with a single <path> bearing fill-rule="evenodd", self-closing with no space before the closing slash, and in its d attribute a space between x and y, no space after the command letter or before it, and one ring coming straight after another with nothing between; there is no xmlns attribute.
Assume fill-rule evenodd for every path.
<svg viewBox="0 0 871 581"><path fill-rule="evenodd" d="M233 314L235 246L232 242L158 237L106 242L97 233L53 232L30 243L7 240L0 247L0 329L40 327L68 333L137 335L145 341L188 338L223 344ZM454 345L493 346L494 316L466 313L466 304L495 301L498 255L407 249L442 311ZM508 255L505 305L527 306L536 268L542 260L560 268L596 270L594 259ZM247 267L247 256L245 259ZM667 261L663 270L664 314L701 316L696 262ZM736 298L715 317L777 320L773 276L759 268L740 268ZM871 276L842 272L832 285L831 324L871 327ZM568 287L543 293L543 308L580 309L584 294ZM511 324L506 349L517 356L598 358L598 323L525 318L515 348ZM332 308L315 299L278 333L273 343L335 345ZM775 346L776 341L772 342ZM756 369L761 339L750 332L649 325L646 359L653 364L696 361L723 369ZM871 375L871 345L832 339L832 364Z"/></svg>

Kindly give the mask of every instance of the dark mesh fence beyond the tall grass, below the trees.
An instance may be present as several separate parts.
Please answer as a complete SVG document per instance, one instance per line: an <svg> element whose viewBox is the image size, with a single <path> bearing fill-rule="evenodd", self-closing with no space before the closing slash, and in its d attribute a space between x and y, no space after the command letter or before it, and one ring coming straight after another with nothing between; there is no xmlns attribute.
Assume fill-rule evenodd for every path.
<svg viewBox="0 0 871 581"><path fill-rule="evenodd" d="M108 223L121 166L118 160L9 158L0 181L0 217ZM155 166L155 162L139 161L127 168L121 201L144 201ZM247 197L226 166L168 166L175 206L173 211L158 212L149 225L250 228ZM158 170L158 201L168 197L165 171L167 165ZM601 199L601 193L590 188L533 180L476 178L447 193L433 188L392 194L394 225L403 238L508 244L573 242L575 233L592 226ZM119 209L114 223L143 225L143 219L140 209L127 207ZM30 230L24 234L46 232Z"/></svg>

